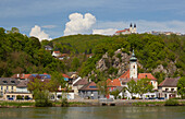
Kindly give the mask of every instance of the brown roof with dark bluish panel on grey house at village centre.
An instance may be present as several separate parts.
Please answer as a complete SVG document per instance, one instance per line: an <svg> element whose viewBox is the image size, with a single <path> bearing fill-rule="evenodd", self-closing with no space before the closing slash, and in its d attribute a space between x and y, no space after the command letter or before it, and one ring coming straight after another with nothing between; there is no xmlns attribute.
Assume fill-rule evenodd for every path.
<svg viewBox="0 0 185 119"><path fill-rule="evenodd" d="M98 87L95 82L89 82L79 88L79 91L98 91Z"/></svg>

